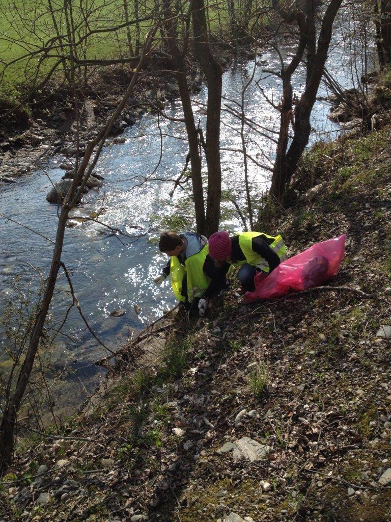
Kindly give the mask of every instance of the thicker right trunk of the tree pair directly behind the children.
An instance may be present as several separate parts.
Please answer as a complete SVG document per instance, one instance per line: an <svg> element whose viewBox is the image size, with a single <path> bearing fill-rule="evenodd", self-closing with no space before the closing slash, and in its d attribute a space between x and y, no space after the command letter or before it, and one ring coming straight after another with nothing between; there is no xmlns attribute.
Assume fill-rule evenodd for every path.
<svg viewBox="0 0 391 522"><path fill-rule="evenodd" d="M193 0L191 15L194 46L207 85L205 157L208 184L204 232L206 236L209 236L218 230L220 219L220 116L223 72L210 49L203 0Z"/></svg>

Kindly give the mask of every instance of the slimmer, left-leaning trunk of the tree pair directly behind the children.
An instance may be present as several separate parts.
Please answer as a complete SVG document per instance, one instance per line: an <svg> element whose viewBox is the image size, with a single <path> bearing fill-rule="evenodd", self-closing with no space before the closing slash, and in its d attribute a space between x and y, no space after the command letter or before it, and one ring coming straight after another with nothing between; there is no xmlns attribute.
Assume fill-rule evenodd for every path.
<svg viewBox="0 0 391 522"><path fill-rule="evenodd" d="M184 110L187 139L190 151L191 182L193 187L194 208L196 210L196 225L199 234L204 233L205 208L202 189L201 156L199 151L198 131L194 122L193 110L189 88L186 81L186 68L184 58L179 51L177 43L176 18L171 9L171 0L164 0L164 26L166 31L166 43L172 56L172 64L178 82L179 95Z"/></svg>

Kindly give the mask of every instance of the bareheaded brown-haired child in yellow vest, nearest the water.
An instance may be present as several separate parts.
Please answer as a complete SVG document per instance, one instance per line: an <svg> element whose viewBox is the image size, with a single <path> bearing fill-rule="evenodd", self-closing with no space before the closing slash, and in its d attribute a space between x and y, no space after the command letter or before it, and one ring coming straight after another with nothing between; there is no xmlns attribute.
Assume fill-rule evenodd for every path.
<svg viewBox="0 0 391 522"><path fill-rule="evenodd" d="M206 312L207 301L226 284L226 270L209 256L207 239L194 232L163 232L159 250L169 256L166 267L153 279L157 285L170 276L176 298L188 311Z"/></svg>

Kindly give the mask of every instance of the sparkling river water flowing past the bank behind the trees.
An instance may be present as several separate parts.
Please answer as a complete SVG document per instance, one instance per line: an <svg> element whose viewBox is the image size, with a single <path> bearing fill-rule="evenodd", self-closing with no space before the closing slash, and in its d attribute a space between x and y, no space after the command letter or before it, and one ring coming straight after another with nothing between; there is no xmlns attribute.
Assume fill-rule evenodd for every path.
<svg viewBox="0 0 391 522"><path fill-rule="evenodd" d="M293 51L289 44L283 46L283 56ZM280 99L280 80L276 76L262 72L262 69L279 68L279 57L274 50L262 52L255 65L254 80L259 81L268 98L278 104ZM335 45L328 59L328 70L340 84L351 87L350 47ZM254 61L235 65L223 75L224 104L238 110L234 101L240 102L243 82L247 82L254 68ZM298 70L294 88L303 88L303 72ZM319 96L326 92L321 87ZM276 111L268 104L261 92L252 82L246 92L246 116L256 123L278 130ZM228 101L228 100L234 101ZM206 103L206 88L194 95L195 114L204 127L205 116L202 107ZM312 114L311 143L319 139L336 137L338 126L327 120L329 106L316 102ZM167 101L165 112L180 117L179 100ZM222 168L224 188L236 195L238 201L243 192L242 155L233 149L241 148L238 134L240 124L233 115L222 115ZM269 136L276 136L266 132ZM102 222L118 228L130 235L145 234L134 240L109 233L101 224L92 221L75 220L74 228L67 228L64 242L63 260L70 272L72 283L84 316L103 343L115 350L122 346L132 333L140 330L148 322L161 315L174 305L169 281L155 287L151 278L156 276L166 263L155 242L157 231L154 216L169 213L168 194L184 166L187 144L184 129L180 123L160 122L155 114L145 113L137 124L124 132L126 143L104 148L97 172L105 176L104 186L99 193L90 191L84 197L83 205L75 216L89 216L104 208L99 217ZM248 153L259 163L271 165L273 144L267 137L251 133L248 136ZM231 149L231 150L227 150ZM265 158L265 156L267 158ZM58 168L64 158L56 156L42 170L36 170L23 177L17 184L1 187L0 208L4 215L29 227L42 235L37 235L11 221L0 220L0 313L4 316L7 301L18 303L20 292L27 295L29 285L34 293L40 282L40 274L46 275L53 251L57 226L57 206L46 202L45 195L50 188L49 177L56 182L64 174ZM249 164L250 179L254 191L263 191L268 186L269 173L254 163ZM181 197L177 189L175 198ZM225 223L230 228L239 228L235 218ZM133 227L140 227L135 229ZM273 231L267 231L273 232ZM34 267L34 269L32 268ZM20 290L15 288L16 278ZM53 300L52 319L49 333L56 334L63 322L71 296L64 275L59 277L57 291ZM124 309L121 317L111 317L113 310ZM4 325L0 325L2 356L0 363L5 369L9 366L6 347L9 341ZM62 375L63 384L57 392L59 405L66 402L77 404L99 379L99 373L92 362L106 354L85 328L76 307L70 310L61 333L57 333L52 344L51 361L54 370ZM66 371L68 370L68 371ZM58 395L61 395L58 397Z"/></svg>

